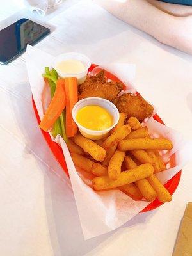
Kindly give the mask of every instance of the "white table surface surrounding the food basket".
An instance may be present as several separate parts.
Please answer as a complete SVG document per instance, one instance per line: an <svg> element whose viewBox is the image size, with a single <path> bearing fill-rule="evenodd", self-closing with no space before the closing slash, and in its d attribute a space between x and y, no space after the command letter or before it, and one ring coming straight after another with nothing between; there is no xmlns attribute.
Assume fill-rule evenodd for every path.
<svg viewBox="0 0 192 256"><path fill-rule="evenodd" d="M0 26L22 17L52 29L36 45L52 55L79 51L93 63L135 63L138 91L168 126L192 140L192 56L88 2L65 1L44 18L14 6L1 8ZM172 255L186 203L192 201L192 163L183 168L170 204L84 241L73 193L36 124L24 56L0 67L1 255Z"/></svg>

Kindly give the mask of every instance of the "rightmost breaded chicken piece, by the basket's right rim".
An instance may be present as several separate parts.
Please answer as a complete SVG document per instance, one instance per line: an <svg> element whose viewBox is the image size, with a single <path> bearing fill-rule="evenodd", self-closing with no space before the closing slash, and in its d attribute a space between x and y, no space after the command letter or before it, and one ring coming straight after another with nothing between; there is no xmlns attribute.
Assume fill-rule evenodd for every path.
<svg viewBox="0 0 192 256"><path fill-rule="evenodd" d="M131 116L138 118L140 122L147 117L152 116L154 111L151 106L141 95L132 95L131 93L122 94L113 100L118 111L127 113L127 119Z"/></svg>

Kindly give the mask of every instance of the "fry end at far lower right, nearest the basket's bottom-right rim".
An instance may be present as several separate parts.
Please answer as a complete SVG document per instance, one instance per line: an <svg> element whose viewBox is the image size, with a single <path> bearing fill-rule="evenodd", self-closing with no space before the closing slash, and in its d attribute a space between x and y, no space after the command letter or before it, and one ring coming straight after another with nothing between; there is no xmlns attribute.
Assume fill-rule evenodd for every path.
<svg viewBox="0 0 192 256"><path fill-rule="evenodd" d="M170 195L169 191L164 188L163 184L157 179L156 175L152 175L147 178L148 182L154 188L157 193L157 198L160 202L170 202L172 200L172 196Z"/></svg>

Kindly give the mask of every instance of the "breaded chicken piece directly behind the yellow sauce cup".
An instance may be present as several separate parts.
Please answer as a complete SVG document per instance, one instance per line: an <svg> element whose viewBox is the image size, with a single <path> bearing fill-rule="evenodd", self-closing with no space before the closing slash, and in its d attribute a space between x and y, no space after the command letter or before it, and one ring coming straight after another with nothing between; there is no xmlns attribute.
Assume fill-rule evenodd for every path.
<svg viewBox="0 0 192 256"><path fill-rule="evenodd" d="M118 92L119 88L113 82L106 82L105 84L92 84L81 92L79 95L79 100L88 97L100 97L112 101L117 97Z"/></svg>

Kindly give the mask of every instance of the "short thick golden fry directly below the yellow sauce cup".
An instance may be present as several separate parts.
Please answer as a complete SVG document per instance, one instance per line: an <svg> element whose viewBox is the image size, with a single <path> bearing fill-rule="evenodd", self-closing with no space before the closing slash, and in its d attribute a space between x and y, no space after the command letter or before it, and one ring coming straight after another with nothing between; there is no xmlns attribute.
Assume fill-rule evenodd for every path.
<svg viewBox="0 0 192 256"><path fill-rule="evenodd" d="M85 152L88 152L96 161L102 162L106 157L106 150L81 134L75 136L73 141Z"/></svg>

